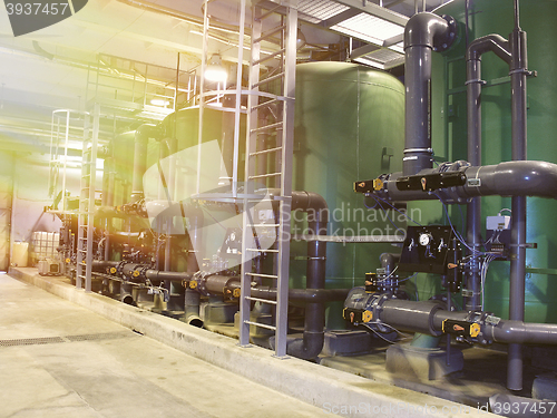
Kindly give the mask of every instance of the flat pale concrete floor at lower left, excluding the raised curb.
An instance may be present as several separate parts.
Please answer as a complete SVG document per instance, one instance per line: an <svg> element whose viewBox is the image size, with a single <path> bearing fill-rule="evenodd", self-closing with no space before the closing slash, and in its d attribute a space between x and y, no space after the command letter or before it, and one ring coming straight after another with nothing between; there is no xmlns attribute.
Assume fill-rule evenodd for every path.
<svg viewBox="0 0 557 418"><path fill-rule="evenodd" d="M0 417L331 415L8 275L0 376Z"/></svg>

